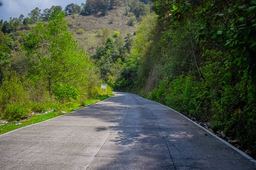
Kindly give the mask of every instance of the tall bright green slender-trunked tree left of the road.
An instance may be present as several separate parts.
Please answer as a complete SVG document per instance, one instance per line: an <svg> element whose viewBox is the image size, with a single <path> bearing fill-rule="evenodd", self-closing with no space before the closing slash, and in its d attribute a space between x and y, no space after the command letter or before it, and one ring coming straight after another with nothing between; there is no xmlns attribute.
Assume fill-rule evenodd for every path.
<svg viewBox="0 0 256 170"><path fill-rule="evenodd" d="M50 96L52 85L71 82L88 69L89 58L67 31L64 18L64 11L55 11L49 23L37 23L28 34L22 34L26 56L36 60L35 72L47 81Z"/></svg>

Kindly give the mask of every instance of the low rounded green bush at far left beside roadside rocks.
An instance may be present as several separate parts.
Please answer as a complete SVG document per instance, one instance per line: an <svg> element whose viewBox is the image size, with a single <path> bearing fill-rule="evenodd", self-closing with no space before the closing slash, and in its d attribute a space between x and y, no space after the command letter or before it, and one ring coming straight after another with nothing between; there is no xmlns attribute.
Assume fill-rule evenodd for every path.
<svg viewBox="0 0 256 170"><path fill-rule="evenodd" d="M22 119L29 114L29 108L23 104L12 103L6 105L3 118L8 120Z"/></svg>

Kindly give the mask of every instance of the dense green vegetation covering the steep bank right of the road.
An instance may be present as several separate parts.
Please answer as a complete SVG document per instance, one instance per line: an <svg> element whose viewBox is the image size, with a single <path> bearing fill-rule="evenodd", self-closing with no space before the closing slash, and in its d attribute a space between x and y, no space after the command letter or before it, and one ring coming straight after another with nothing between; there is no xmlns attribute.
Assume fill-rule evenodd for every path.
<svg viewBox="0 0 256 170"><path fill-rule="evenodd" d="M209 122L256 156L256 1L152 2L114 90Z"/></svg>

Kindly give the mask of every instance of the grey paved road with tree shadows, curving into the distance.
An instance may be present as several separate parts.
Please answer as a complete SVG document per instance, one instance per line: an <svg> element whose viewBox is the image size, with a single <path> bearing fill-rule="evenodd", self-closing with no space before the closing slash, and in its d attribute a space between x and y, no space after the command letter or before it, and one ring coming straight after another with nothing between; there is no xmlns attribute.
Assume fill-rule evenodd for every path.
<svg viewBox="0 0 256 170"><path fill-rule="evenodd" d="M0 170L256 170L178 113L134 94L0 136Z"/></svg>

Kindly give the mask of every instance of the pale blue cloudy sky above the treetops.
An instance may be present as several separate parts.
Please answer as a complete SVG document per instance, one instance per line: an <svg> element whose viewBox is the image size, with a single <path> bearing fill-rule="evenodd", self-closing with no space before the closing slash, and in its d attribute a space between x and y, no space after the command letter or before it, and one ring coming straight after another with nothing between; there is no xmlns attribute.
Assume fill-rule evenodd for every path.
<svg viewBox="0 0 256 170"><path fill-rule="evenodd" d="M51 6L62 6L64 9L70 3L85 3L85 0L1 0L3 6L0 7L0 20L9 20L10 17L25 17L32 10L38 7L42 11Z"/></svg>

